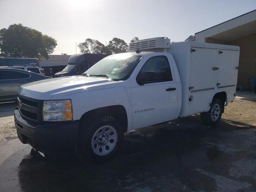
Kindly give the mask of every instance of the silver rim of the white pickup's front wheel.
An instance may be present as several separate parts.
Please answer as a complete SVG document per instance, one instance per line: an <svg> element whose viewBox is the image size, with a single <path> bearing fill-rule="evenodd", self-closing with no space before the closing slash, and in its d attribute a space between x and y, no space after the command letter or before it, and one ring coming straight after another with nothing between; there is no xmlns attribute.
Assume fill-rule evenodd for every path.
<svg viewBox="0 0 256 192"><path fill-rule="evenodd" d="M98 156L110 154L116 147L118 135L110 125L101 126L92 136L92 150Z"/></svg>

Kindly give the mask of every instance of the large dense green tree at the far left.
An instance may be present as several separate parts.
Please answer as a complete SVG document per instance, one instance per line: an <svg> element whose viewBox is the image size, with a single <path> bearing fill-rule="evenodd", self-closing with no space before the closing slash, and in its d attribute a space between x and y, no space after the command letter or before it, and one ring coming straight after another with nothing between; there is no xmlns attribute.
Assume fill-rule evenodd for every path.
<svg viewBox="0 0 256 192"><path fill-rule="evenodd" d="M13 24L0 30L0 52L2 56L14 58L49 58L57 42L38 30Z"/></svg>

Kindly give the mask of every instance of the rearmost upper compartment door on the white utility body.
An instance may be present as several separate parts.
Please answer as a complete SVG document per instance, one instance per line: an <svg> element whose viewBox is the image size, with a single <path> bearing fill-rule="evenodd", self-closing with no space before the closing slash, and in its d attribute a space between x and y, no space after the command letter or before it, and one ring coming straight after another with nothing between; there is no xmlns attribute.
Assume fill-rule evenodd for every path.
<svg viewBox="0 0 256 192"><path fill-rule="evenodd" d="M219 50L218 87L236 85L238 56L237 50Z"/></svg>

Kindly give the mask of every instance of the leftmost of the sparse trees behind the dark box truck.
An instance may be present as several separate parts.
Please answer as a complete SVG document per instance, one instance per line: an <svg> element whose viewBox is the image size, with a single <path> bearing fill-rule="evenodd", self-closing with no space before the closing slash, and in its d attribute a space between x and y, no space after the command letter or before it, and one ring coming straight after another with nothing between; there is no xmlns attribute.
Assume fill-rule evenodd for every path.
<svg viewBox="0 0 256 192"><path fill-rule="evenodd" d="M105 53L105 46L101 42L95 39L87 38L85 42L79 43L78 48L81 53Z"/></svg>

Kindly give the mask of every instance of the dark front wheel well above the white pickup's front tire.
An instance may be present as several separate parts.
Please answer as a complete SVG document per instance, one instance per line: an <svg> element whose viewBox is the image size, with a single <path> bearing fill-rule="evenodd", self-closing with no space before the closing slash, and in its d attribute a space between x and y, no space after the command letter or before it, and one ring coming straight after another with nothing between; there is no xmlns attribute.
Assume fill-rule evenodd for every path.
<svg viewBox="0 0 256 192"><path fill-rule="evenodd" d="M90 110L82 115L80 122L83 124L90 124L90 121L95 118L102 118L103 120L116 119L121 124L123 132L127 132L127 114L124 106L122 105L113 105Z"/></svg>

